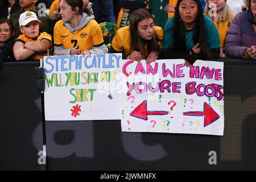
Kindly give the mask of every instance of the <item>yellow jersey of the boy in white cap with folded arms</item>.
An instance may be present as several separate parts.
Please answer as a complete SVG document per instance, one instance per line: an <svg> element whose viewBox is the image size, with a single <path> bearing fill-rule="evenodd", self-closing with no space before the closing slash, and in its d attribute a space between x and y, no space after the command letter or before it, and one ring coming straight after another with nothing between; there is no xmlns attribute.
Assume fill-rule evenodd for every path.
<svg viewBox="0 0 256 182"><path fill-rule="evenodd" d="M39 32L39 35L36 38L28 38L25 34L22 34L22 35L18 36L18 38L15 39L15 42L19 41L19 42L22 42L23 44L25 44L27 42L38 42L38 41L41 41L44 39L46 39L52 43L52 36L47 34L47 32L42 32L42 33ZM47 56L47 51L36 52L36 53L34 53L34 55L30 56L28 59L40 60L44 56Z"/></svg>

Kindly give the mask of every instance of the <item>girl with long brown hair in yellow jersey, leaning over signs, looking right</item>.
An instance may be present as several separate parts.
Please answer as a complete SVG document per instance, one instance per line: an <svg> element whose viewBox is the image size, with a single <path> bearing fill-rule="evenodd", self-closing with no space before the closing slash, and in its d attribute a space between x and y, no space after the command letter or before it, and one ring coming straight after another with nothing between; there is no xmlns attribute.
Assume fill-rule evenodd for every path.
<svg viewBox="0 0 256 182"><path fill-rule="evenodd" d="M119 28L112 40L110 52L122 52L123 59L151 63L158 59L163 30L154 25L154 17L145 9L133 12L129 26Z"/></svg>

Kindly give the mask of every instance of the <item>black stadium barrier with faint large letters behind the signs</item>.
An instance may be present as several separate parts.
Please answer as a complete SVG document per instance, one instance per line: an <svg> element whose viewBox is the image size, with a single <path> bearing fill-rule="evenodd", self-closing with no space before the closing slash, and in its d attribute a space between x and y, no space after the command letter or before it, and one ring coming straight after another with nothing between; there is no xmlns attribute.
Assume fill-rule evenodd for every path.
<svg viewBox="0 0 256 182"><path fill-rule="evenodd" d="M256 61L217 61L225 63L224 136L127 133L119 120L46 121L48 170L255 170ZM39 62L0 68L0 170L41 169L35 67Z"/></svg>

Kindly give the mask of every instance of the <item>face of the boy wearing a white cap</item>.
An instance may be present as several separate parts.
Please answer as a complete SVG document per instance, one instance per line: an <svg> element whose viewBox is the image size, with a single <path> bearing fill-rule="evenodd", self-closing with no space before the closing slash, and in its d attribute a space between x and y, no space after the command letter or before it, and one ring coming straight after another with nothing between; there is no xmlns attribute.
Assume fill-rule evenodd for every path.
<svg viewBox="0 0 256 182"><path fill-rule="evenodd" d="M29 38L36 38L39 34L39 23L34 20L20 28L22 34L26 34Z"/></svg>

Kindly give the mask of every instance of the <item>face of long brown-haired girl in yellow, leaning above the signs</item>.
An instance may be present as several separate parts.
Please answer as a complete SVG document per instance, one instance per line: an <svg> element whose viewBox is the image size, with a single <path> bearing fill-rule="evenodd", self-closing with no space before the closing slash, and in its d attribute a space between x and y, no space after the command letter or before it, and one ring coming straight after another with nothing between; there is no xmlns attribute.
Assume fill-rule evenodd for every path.
<svg viewBox="0 0 256 182"><path fill-rule="evenodd" d="M137 31L139 36L145 40L151 40L154 36L155 25L152 18L146 18L138 23Z"/></svg>

